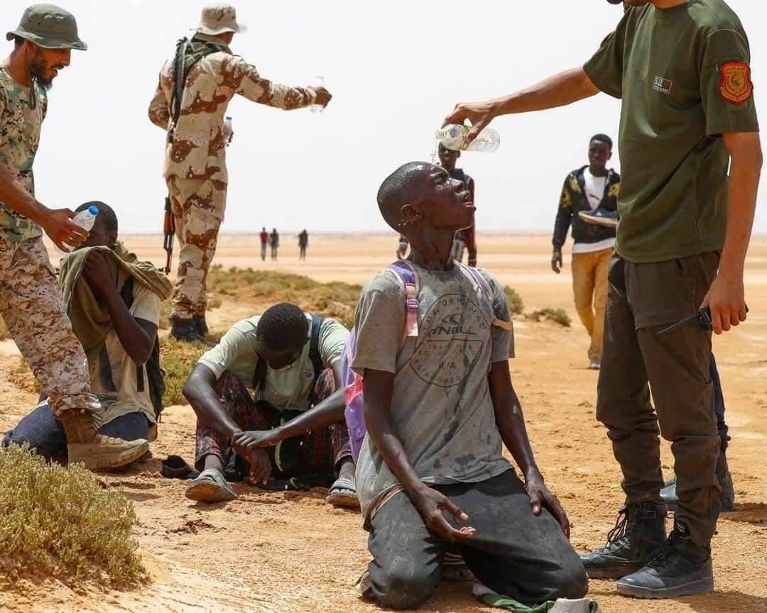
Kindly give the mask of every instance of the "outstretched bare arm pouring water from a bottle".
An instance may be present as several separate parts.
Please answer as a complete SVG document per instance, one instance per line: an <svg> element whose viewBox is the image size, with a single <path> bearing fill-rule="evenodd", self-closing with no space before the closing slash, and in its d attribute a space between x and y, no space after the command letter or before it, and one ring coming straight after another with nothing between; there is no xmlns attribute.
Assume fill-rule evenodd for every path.
<svg viewBox="0 0 767 613"><path fill-rule="evenodd" d="M453 113L445 117L443 125L464 123L465 120L469 120L472 123L469 140L473 140L497 116L565 107L578 100L594 96L598 92L597 86L579 66L555 74L532 87L506 97L485 102L456 104Z"/></svg>

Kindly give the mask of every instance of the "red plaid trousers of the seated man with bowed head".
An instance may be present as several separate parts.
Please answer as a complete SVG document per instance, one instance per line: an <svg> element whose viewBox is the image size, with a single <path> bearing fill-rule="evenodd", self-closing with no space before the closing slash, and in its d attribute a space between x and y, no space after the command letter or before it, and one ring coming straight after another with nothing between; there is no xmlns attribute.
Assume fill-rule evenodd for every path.
<svg viewBox="0 0 767 613"><path fill-rule="evenodd" d="M314 398L317 398L317 402L321 402L334 391L333 371L325 369L314 384ZM243 430L271 430L279 425L278 411L265 411L260 408L253 400L248 388L232 372L225 371L221 375L221 379L216 382L216 394L221 398L226 412ZM275 465L274 447L268 447L267 451L272 458L272 474L275 476L285 477L311 472L318 476L325 474L332 479L342 462L347 458L351 459L349 431L344 422L332 424L318 431L307 432L297 438L301 438L301 451L298 466L291 470L291 475L279 474ZM206 455L216 455L224 462L228 452L229 439L197 421L195 445L197 469L202 470Z"/></svg>

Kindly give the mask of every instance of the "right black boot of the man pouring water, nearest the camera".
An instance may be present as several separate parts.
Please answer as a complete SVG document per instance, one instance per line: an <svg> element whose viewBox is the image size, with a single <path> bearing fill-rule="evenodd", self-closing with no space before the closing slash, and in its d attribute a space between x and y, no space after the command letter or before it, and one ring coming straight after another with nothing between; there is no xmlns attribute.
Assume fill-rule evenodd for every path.
<svg viewBox="0 0 767 613"><path fill-rule="evenodd" d="M618 594L635 598L676 598L708 594L714 589L711 547L690 539L685 523L674 520L667 543L647 560L644 569L617 583Z"/></svg>

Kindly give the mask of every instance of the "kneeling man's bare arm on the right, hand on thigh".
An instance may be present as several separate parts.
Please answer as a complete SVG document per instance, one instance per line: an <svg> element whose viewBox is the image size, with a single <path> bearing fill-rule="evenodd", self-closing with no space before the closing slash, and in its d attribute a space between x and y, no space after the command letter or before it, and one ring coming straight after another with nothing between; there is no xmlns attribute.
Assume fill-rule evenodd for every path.
<svg viewBox="0 0 767 613"><path fill-rule="evenodd" d="M541 471L535 464L535 457L530 447L530 439L525 428L525 418L519 406L519 398L514 391L512 378L509 375L509 362L493 362L488 375L490 397L495 408L495 423L501 433L506 448L514 457L519 470L525 477L525 488L530 496L532 512L541 513L541 505L545 504L551 514L556 517L562 532L570 538L570 521L562 509L557 497L545 486Z"/></svg>

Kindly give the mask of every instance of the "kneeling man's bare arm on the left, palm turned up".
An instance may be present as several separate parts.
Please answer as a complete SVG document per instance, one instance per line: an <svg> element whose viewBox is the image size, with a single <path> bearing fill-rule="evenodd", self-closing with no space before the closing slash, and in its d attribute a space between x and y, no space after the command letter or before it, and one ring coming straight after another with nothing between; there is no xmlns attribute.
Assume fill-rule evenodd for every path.
<svg viewBox="0 0 767 613"><path fill-rule="evenodd" d="M407 457L400 433L391 416L393 373L365 369L362 385L367 435L378 448L384 462L400 480L400 484L423 517L426 526L437 536L451 542L473 536L476 533L474 528L464 526L456 530L447 523L442 514L443 511L447 511L456 520L462 522L468 521L469 516L443 493L426 487L413 469L413 465L410 464L410 458Z"/></svg>

